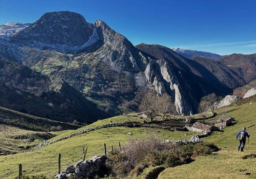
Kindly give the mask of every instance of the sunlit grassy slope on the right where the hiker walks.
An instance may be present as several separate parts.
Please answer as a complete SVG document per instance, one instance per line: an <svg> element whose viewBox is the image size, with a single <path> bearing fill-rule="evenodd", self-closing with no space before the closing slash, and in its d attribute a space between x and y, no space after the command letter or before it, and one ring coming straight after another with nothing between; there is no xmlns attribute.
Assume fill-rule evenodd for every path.
<svg viewBox="0 0 256 179"><path fill-rule="evenodd" d="M250 104L252 101L255 102ZM215 132L203 138L204 141L215 143L221 150L210 156L199 156L190 164L167 168L160 173L159 179L256 178L256 159L241 158L243 155L256 153L256 126L250 130L248 151L237 151L238 141L235 139L236 133L243 126L256 124L256 96L237 101L224 109L235 118L237 124L226 127L224 132ZM246 173L251 174L245 175Z"/></svg>

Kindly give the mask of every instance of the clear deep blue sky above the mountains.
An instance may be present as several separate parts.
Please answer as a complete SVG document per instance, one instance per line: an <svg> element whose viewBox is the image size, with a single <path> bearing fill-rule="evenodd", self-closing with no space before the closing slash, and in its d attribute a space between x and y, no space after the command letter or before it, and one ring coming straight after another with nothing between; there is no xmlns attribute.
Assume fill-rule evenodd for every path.
<svg viewBox="0 0 256 179"><path fill-rule="evenodd" d="M0 0L0 24L34 22L63 10L91 23L104 20L134 45L256 53L255 0Z"/></svg>

